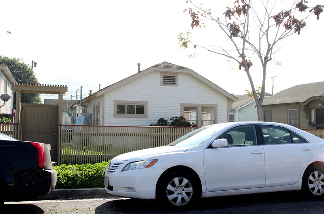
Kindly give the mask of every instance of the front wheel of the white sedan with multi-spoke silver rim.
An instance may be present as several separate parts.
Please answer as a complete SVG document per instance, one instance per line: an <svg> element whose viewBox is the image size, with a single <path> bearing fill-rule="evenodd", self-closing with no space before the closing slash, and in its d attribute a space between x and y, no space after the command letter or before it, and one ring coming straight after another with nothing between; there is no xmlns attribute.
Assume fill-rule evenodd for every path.
<svg viewBox="0 0 324 214"><path fill-rule="evenodd" d="M161 180L157 199L167 208L186 209L201 197L200 183L187 171L172 171Z"/></svg>

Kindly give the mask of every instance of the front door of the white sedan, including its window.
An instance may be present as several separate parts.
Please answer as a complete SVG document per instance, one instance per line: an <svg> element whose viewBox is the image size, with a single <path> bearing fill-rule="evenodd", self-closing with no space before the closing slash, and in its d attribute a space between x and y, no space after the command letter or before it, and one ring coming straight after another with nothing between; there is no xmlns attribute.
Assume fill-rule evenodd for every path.
<svg viewBox="0 0 324 214"><path fill-rule="evenodd" d="M204 150L207 191L265 187L264 151L255 126L234 127L218 139L227 139L228 146Z"/></svg>

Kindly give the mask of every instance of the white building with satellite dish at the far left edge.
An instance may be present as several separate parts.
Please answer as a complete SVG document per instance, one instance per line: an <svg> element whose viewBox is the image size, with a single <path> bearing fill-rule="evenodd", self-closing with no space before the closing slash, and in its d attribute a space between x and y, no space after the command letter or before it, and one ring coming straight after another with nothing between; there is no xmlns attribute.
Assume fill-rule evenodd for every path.
<svg viewBox="0 0 324 214"><path fill-rule="evenodd" d="M7 94L10 99L4 102L0 99L0 114L11 114L13 109L13 90L12 83L17 82L7 65L0 64L0 95ZM2 96L2 98L5 96Z"/></svg>

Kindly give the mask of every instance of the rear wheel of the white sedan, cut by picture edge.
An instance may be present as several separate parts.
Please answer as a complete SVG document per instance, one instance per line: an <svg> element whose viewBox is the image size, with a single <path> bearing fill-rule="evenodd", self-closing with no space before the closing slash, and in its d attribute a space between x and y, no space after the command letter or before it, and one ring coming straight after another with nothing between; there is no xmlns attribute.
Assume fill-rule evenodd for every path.
<svg viewBox="0 0 324 214"><path fill-rule="evenodd" d="M324 197L324 168L312 166L303 176L302 192L312 200L320 200Z"/></svg>

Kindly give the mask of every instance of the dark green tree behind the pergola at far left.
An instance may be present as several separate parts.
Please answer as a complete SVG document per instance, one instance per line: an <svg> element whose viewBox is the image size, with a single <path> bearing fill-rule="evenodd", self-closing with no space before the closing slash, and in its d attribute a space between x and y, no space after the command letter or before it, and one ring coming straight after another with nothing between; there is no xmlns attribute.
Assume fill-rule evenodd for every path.
<svg viewBox="0 0 324 214"><path fill-rule="evenodd" d="M0 64L5 64L9 67L14 79L17 83L39 84L33 70L29 65L22 62L22 59L10 59L6 56L0 56ZM40 104L39 94L23 93L21 102L26 104Z"/></svg>

